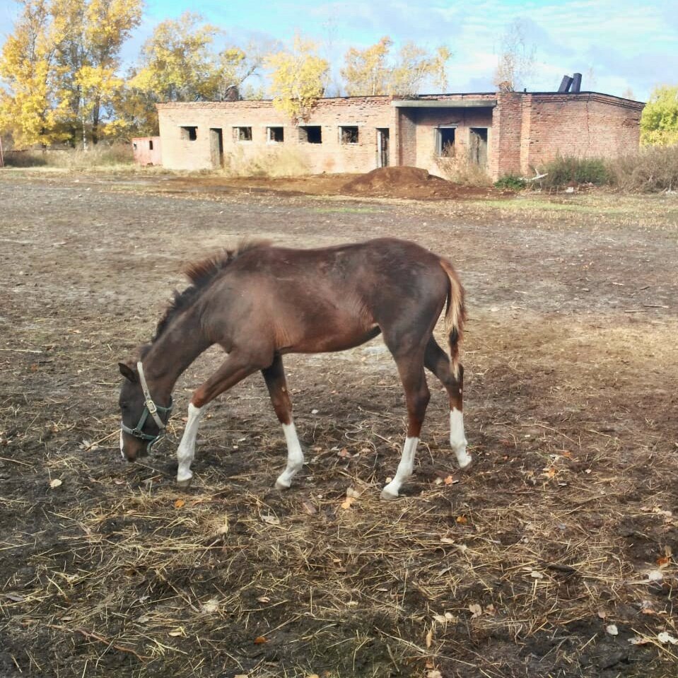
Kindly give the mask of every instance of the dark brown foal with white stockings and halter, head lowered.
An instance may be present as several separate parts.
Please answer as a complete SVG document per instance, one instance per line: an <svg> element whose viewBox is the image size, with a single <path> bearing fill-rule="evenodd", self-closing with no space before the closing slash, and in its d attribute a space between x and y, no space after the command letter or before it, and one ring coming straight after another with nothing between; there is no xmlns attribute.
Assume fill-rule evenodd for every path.
<svg viewBox="0 0 678 678"><path fill-rule="evenodd" d="M450 398L450 445L467 467L462 415L463 368L458 344L464 327L464 290L447 259L414 242L368 242L290 250L257 242L189 265L192 281L158 323L136 363L119 363L120 450L127 460L144 454L165 430L179 376L213 344L228 353L195 390L177 459L177 482L187 486L200 418L206 405L245 377L261 371L287 442L287 466L276 488L288 488L304 457L292 421L282 356L343 351L383 334L402 380L407 438L394 479L382 498L393 499L412 474L419 432L431 396L424 367ZM450 358L433 338L443 307ZM134 428L131 428L134 426Z"/></svg>

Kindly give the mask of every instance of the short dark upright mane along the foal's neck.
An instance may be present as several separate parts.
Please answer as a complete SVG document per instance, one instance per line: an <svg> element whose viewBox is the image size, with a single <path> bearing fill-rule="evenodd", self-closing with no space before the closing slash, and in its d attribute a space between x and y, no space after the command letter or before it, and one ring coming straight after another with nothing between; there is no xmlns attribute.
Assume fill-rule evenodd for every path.
<svg viewBox="0 0 678 678"><path fill-rule="evenodd" d="M238 243L238 246L233 250L223 249L210 257L206 257L206 259L187 264L183 273L192 282L192 285L181 292L175 290L174 298L165 310L165 315L160 318L160 322L158 322L156 327L156 334L151 339L151 342L156 341L167 329L170 322L192 305L200 296L200 293L216 279L221 271L226 269L229 264L232 264L235 259L238 259L245 252L259 250L270 245L271 242L269 240L245 240Z"/></svg>

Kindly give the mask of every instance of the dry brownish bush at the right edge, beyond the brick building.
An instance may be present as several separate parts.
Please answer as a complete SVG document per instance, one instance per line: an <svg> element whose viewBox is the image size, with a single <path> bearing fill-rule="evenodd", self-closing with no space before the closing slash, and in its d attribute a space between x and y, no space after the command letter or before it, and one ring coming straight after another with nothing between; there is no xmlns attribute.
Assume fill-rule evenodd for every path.
<svg viewBox="0 0 678 678"><path fill-rule="evenodd" d="M612 184L629 192L678 190L678 144L646 146L609 161Z"/></svg>

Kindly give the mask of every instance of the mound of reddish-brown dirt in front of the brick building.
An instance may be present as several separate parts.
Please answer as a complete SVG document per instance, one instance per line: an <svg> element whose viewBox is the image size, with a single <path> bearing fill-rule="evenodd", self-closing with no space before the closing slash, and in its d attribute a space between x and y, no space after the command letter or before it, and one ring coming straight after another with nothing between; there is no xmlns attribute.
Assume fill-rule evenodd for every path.
<svg viewBox="0 0 678 678"><path fill-rule="evenodd" d="M418 167L382 167L354 177L341 188L344 195L431 200L495 196L489 187L462 186Z"/></svg>

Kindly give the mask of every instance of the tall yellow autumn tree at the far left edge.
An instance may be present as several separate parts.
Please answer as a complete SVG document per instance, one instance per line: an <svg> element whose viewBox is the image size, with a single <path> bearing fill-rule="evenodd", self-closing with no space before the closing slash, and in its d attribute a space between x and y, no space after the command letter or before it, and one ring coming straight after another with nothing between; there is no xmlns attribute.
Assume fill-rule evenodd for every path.
<svg viewBox="0 0 678 678"><path fill-rule="evenodd" d="M16 146L61 139L57 45L60 35L46 0L21 0L21 13L0 54L0 130Z"/></svg>

